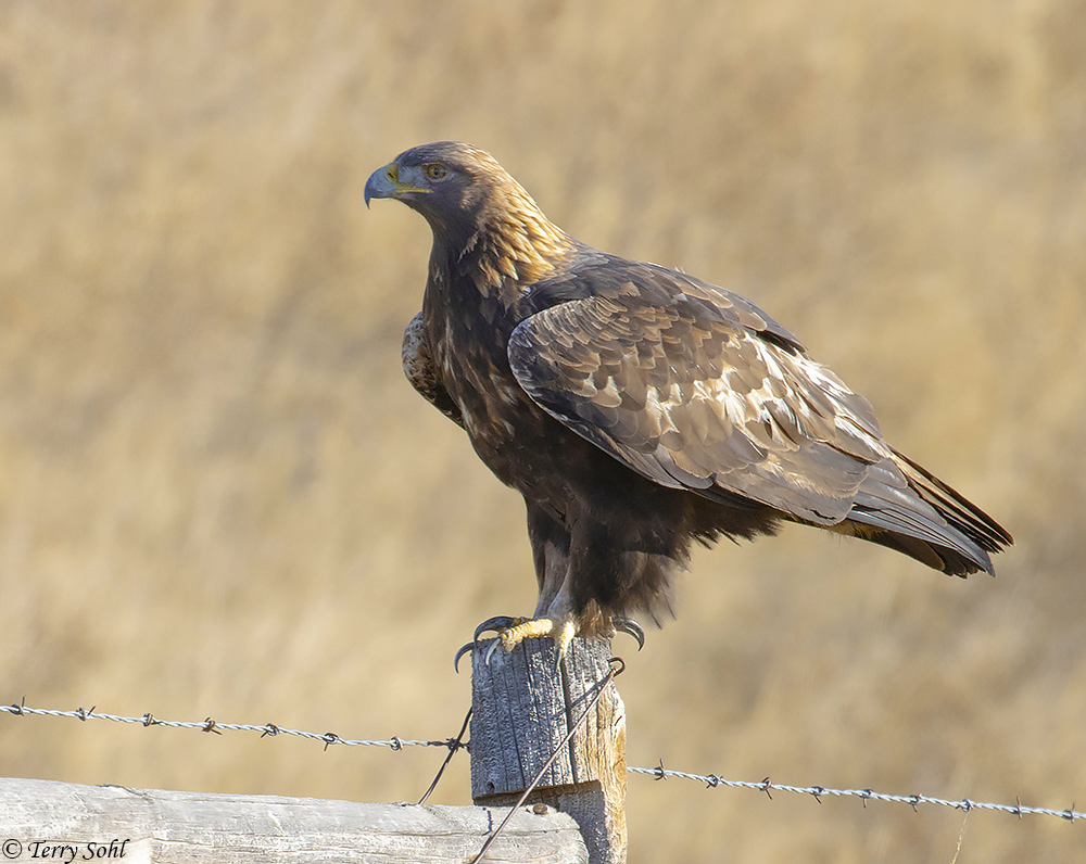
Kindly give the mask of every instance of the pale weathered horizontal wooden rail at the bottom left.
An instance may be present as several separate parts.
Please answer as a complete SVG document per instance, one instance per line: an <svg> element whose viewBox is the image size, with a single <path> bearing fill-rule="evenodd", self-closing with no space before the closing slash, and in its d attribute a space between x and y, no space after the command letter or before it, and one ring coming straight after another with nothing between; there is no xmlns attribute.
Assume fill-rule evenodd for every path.
<svg viewBox="0 0 1086 864"><path fill-rule="evenodd" d="M8 854L14 847L4 847L13 861L73 857L49 854L35 842L76 847L78 861L127 840L123 860L129 864L464 864L506 812L0 779L0 841L21 844L14 855ZM487 861L583 864L589 857L569 815L526 808Z"/></svg>

